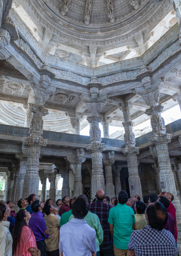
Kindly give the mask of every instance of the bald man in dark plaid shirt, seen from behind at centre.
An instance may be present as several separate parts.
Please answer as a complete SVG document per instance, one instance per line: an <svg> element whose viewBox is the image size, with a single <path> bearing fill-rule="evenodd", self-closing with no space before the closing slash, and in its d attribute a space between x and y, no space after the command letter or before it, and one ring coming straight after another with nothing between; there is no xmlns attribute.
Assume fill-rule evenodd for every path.
<svg viewBox="0 0 181 256"><path fill-rule="evenodd" d="M101 256L114 256L113 239L109 231L108 216L111 209L110 204L105 204L105 193L103 190L98 190L94 203L89 204L89 211L99 217L100 224L104 231L103 242L99 246Z"/></svg>

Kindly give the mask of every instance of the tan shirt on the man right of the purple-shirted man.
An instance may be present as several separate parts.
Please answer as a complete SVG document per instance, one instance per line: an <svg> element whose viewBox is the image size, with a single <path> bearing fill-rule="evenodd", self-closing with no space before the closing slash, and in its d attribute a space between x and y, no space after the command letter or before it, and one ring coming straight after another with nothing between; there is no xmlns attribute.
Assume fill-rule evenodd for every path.
<svg viewBox="0 0 181 256"><path fill-rule="evenodd" d="M46 215L44 219L46 226L50 229L49 237L48 239L45 239L46 250L51 252L58 249L60 219L53 213Z"/></svg>

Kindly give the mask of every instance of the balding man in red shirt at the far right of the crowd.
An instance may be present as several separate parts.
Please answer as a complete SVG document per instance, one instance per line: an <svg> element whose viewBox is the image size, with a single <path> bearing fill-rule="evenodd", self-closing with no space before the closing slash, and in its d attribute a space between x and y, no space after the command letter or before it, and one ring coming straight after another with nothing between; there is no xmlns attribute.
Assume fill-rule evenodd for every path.
<svg viewBox="0 0 181 256"><path fill-rule="evenodd" d="M159 196L159 198L160 198L160 196L165 196L170 201L170 205L167 208L167 212L170 213L175 219L175 235L174 235L174 238L175 238L175 242L176 242L176 245L177 245L178 231L177 231L176 209L175 209L174 205L172 204L172 201L174 200L174 195L172 195L172 193L170 193L170 192L164 191L164 192L161 192L158 196Z"/></svg>

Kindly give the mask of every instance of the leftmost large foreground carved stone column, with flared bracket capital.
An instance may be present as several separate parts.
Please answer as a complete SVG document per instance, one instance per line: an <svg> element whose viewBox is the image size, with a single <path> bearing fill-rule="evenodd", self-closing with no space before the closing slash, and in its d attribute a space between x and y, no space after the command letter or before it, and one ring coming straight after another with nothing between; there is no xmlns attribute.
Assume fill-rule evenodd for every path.
<svg viewBox="0 0 181 256"><path fill-rule="evenodd" d="M46 65L42 68L45 70ZM49 82L51 80L48 75L41 75L40 82L34 77L28 78L32 89L29 97L29 106L30 111L33 114L29 130L30 136L24 138L24 143L28 147L28 157L22 195L23 198L27 198L32 193L38 195L40 151L41 147L45 147L47 144L47 140L42 138L42 117L48 114L48 109L44 108L43 104L45 104L46 100L51 95L51 92L48 91Z"/></svg>

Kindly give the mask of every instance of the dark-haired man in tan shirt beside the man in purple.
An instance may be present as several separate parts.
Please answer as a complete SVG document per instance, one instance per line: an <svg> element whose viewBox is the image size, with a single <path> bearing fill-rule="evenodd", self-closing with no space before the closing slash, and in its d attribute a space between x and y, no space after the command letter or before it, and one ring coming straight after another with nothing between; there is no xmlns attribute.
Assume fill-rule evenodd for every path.
<svg viewBox="0 0 181 256"><path fill-rule="evenodd" d="M47 256L59 256L58 236L60 219L56 216L58 215L58 209L46 203L43 211L46 214L44 218L46 227L50 230L48 239L45 239Z"/></svg>

